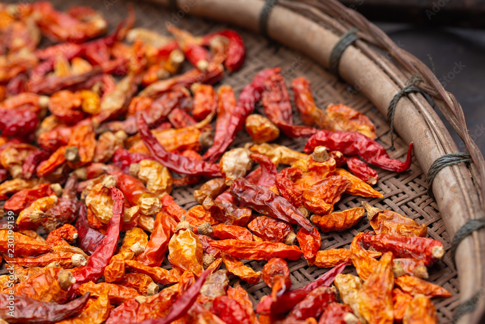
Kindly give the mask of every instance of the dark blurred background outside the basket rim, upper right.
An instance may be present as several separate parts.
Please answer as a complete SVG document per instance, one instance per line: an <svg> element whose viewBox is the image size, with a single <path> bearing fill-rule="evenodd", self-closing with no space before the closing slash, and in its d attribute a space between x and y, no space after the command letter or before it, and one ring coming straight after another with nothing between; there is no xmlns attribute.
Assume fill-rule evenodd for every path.
<svg viewBox="0 0 485 324"><path fill-rule="evenodd" d="M485 1L341 1L430 68L431 56L436 77L463 107L471 137L485 153ZM463 141L445 123L458 149L465 151Z"/></svg>

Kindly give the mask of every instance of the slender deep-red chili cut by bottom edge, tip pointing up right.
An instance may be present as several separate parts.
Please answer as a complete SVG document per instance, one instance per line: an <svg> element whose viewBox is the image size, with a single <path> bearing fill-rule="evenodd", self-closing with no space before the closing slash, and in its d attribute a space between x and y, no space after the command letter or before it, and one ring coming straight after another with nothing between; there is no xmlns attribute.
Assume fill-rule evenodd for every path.
<svg viewBox="0 0 485 324"><path fill-rule="evenodd" d="M158 318L153 320L146 320L141 322L140 324L169 324L173 321L178 320L180 317L184 316L187 311L192 307L199 295L200 289L202 285L206 281L207 276L212 272L212 270L208 269L204 271L198 278L195 280L194 284L187 290L185 290L182 295L178 298L178 300L172 305L170 311L164 318Z"/></svg>

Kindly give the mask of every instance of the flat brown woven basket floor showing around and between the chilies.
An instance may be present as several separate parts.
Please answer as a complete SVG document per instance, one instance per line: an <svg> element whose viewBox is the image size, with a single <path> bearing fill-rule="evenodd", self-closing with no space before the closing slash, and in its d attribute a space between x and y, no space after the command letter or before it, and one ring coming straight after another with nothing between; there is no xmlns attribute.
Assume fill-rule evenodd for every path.
<svg viewBox="0 0 485 324"><path fill-rule="evenodd" d="M108 18L112 26L127 15L125 3L116 0L69 1L68 3L54 1L54 3L58 9L67 9L67 7L74 4L89 5L102 12L103 15ZM189 17L188 15L178 18L176 11L158 8L156 5L144 2L136 3L135 11L137 16L137 27L150 28L162 34L167 34L164 28L166 21L176 23L178 27L190 30L195 35L206 34L227 27L220 23L209 22L200 18ZM238 28L235 29L240 32L244 38L247 48L246 62L240 71L233 75L226 75L222 82L233 86L237 94L241 91L244 85L251 81L258 71L263 68L279 66L282 69L282 74L287 79L287 85L289 87L291 85L291 80L299 76L305 76L311 81L312 92L319 107L325 107L331 102L344 103L369 116L376 125L377 136L379 137L378 142L385 148L390 147L390 134L387 121L366 98L359 95L355 90L339 81L338 78L329 74L306 56L270 42L258 34L251 34ZM262 113L262 111L259 112ZM296 111L294 111L293 114L295 123L301 124ZM246 142L250 141L250 137L242 131L235 140L233 147L243 146ZM287 145L292 149L302 151L305 141L280 138L279 144ZM401 158L405 156L405 153L407 152L407 143L404 143L397 137L395 147L395 151L388 152L392 158ZM418 223L425 223L428 226L429 236L433 239L441 240L444 243L445 248L448 250L451 238L445 231L436 203L426 194L427 187L425 175L420 169L420 166L414 162L410 171L401 174L385 170L378 170L378 172L380 180L374 188L381 191L384 194L384 197L372 200L371 204L382 209L391 209L399 212L415 219ZM194 188L177 188L172 195L179 205L188 209L197 205L193 197L193 191L197 187L198 186L195 186ZM336 205L335 211L360 205L361 200L361 197L344 196L339 204ZM348 231L322 234L321 249L349 247L352 239L357 233L368 229L370 229L369 223L367 222L367 219L364 218L359 224ZM260 271L265 263L265 261L258 262L249 260L244 262L249 264L256 271ZM167 260L165 260L164 265L169 267ZM289 266L293 287L302 286L328 270L315 266L309 267L307 261L304 260L303 257L298 261L290 261ZM353 267L347 268L345 272L354 272L355 274ZM448 252L445 255L443 261L438 262L429 269L429 273L430 281L444 286L444 288L453 294L453 297L451 298L434 299L438 310L439 322L450 323L452 320L452 311L454 307L459 304L457 275L450 258L450 253ZM231 285L239 280L239 278L234 275L231 275L229 279ZM254 286L242 282L242 287L249 292L250 298L255 305L263 295L271 293L271 290L262 281Z"/></svg>

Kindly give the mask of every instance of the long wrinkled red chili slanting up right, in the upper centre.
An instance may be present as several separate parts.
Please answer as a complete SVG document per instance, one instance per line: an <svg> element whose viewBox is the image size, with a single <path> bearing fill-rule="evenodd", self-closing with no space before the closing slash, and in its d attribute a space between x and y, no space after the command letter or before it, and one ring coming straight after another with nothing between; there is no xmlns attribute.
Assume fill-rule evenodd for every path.
<svg viewBox="0 0 485 324"><path fill-rule="evenodd" d="M214 145L204 154L202 157L204 160L214 163L226 152L236 135L244 127L244 120L254 111L256 102L259 102L261 99L264 80L278 73L279 70L280 68L266 68L262 70L254 77L251 84L246 85L242 89L236 107L234 107L234 111L230 114L228 122L221 123L221 127L218 127L219 125L216 124L216 133L219 129L219 132L225 134L224 138L214 136Z"/></svg>

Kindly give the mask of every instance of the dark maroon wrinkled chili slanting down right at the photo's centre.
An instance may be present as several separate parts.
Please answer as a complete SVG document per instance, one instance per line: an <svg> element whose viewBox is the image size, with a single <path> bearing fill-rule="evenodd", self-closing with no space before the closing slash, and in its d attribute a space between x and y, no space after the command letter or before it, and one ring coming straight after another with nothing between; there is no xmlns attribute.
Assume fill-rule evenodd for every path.
<svg viewBox="0 0 485 324"><path fill-rule="evenodd" d="M231 184L231 194L243 205L284 222L299 224L308 231L313 226L305 216L288 200L278 196L266 187L252 184L244 178L238 178Z"/></svg>

